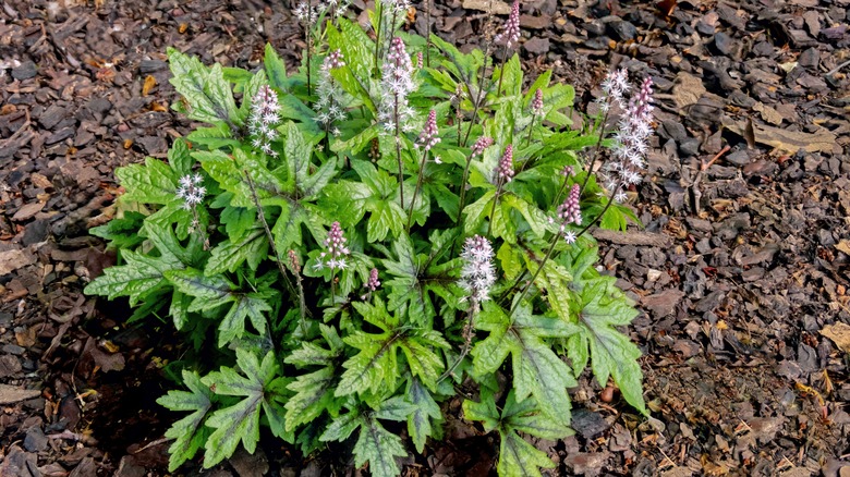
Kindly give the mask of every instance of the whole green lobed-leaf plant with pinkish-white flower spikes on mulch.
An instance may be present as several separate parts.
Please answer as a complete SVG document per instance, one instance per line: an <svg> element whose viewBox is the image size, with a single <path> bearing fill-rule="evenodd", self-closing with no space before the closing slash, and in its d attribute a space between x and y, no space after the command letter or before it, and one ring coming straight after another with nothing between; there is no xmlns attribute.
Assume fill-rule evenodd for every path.
<svg viewBox="0 0 850 477"><path fill-rule="evenodd" d="M350 441L356 466L398 475L464 386L499 474L539 475L554 463L522 435L570 435L588 364L646 414L618 330L636 310L587 232L636 220L621 203L652 83L612 72L602 115L573 131L572 88L525 82L512 54L518 4L470 53L401 32L406 8L378 3L369 35L342 4L303 4L294 75L270 47L256 72L169 51L174 109L206 125L167 162L116 172L122 216L95 233L122 265L86 291L191 343L170 368L187 391L159 401L191 413L167 433L172 469L254 452L267 426L304 453Z"/></svg>

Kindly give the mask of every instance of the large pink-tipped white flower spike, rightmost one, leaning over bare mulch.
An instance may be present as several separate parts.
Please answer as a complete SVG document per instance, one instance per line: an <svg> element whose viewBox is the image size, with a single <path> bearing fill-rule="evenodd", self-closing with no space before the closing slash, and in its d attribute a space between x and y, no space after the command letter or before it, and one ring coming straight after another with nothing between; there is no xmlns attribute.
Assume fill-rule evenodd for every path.
<svg viewBox="0 0 850 477"><path fill-rule="evenodd" d="M641 169L646 166L647 139L653 132L653 81L647 77L641 89L629 100L629 107L620 119L620 131L615 135L614 161L608 164L610 175L608 189L617 189L617 184L628 186L641 182ZM612 184L612 185L611 185ZM618 189L615 199L621 201L626 194Z"/></svg>

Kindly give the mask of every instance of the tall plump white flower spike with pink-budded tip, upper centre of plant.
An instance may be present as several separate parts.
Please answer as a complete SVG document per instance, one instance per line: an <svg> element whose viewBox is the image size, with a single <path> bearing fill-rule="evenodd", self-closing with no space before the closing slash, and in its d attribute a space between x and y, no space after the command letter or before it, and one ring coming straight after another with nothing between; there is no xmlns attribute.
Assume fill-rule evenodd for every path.
<svg viewBox="0 0 850 477"><path fill-rule="evenodd" d="M413 82L413 63L410 61L404 41L392 38L381 76L381 97L378 121L387 132L396 130L410 132L410 119L415 114L408 105L410 95L416 85Z"/></svg>

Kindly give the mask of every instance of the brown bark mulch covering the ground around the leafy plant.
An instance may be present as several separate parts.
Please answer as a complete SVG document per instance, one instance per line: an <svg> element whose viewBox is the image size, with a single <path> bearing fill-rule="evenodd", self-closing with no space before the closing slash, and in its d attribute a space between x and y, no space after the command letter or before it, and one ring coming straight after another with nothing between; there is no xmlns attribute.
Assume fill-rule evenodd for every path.
<svg viewBox="0 0 850 477"><path fill-rule="evenodd" d="M476 45L489 2L437 3L434 30ZM632 194L645 228L595 233L602 267L644 311L632 337L653 417L583 376L576 436L535 442L557 475L850 475L848 7L523 3L524 69L554 68L576 111L611 68L657 87L656 143ZM409 26L424 33L425 15ZM0 475L167 473L175 416L155 399L177 337L82 294L114 261L87 230L114 213L114 168L163 158L190 131L169 110L166 48L253 69L266 41L298 64L289 5L0 1ZM408 475L494 472L497 442L458 404ZM360 473L348 455L305 461L271 443L210 473Z"/></svg>

